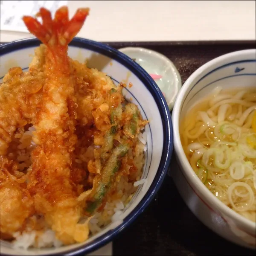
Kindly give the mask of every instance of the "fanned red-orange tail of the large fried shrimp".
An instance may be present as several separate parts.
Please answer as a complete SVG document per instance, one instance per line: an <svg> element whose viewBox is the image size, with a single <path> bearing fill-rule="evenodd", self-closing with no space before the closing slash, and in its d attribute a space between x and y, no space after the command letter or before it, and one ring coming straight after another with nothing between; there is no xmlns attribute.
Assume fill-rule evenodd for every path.
<svg viewBox="0 0 256 256"><path fill-rule="evenodd" d="M34 17L23 17L29 32L47 46L48 62L52 62L52 69L58 69L58 72L62 71L62 73L70 73L67 45L83 26L89 10L88 8L80 8L69 20L67 6L58 9L53 19L47 9L41 8L37 16L42 18L42 24Z"/></svg>

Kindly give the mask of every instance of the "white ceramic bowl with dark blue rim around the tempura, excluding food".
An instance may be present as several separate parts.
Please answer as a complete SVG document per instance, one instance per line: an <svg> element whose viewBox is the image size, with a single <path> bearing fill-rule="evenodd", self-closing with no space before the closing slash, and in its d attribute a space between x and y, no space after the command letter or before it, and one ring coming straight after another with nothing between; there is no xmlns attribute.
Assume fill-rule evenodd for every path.
<svg viewBox="0 0 256 256"><path fill-rule="evenodd" d="M10 67L19 66L26 70L39 44L37 39L30 38L1 46L0 77L3 78ZM133 84L131 88L123 89L125 98L138 105L143 118L150 121L145 127L148 150L145 153L146 163L142 177L146 178L147 182L139 187L123 210L124 220L118 227L109 225L84 243L60 248L15 250L11 244L1 241L1 255L75 255L96 250L111 241L143 212L166 175L173 148L172 122L168 105L154 80L139 64L122 52L95 41L75 38L70 43L68 54L81 62L87 59L88 67L105 72L115 84L121 81Z"/></svg>

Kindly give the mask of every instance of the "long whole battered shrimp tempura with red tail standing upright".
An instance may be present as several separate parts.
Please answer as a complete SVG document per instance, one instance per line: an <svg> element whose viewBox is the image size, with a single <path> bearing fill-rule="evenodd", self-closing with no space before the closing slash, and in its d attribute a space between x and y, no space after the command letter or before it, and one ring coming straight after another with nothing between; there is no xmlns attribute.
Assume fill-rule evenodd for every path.
<svg viewBox="0 0 256 256"><path fill-rule="evenodd" d="M46 47L43 68L45 84L42 108L35 121L33 140L37 147L32 152L32 168L28 189L35 201L35 210L43 213L45 220L64 244L87 239L86 224L78 224L81 206L77 200L79 186L74 182L79 170L72 169L72 159L77 137L76 97L74 81L70 74L67 45L79 32L89 9L79 9L68 19L67 7L57 10L52 20L48 10L41 8L38 16L23 17L29 31ZM79 173L77 175L80 175Z"/></svg>

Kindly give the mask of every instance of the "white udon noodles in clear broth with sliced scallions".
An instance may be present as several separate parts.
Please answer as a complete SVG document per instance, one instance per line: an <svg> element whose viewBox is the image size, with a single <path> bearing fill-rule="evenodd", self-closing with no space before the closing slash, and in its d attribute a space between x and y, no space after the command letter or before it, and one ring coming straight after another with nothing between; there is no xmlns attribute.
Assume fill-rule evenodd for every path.
<svg viewBox="0 0 256 256"><path fill-rule="evenodd" d="M256 221L256 89L221 90L195 104L180 124L186 157L228 207Z"/></svg>

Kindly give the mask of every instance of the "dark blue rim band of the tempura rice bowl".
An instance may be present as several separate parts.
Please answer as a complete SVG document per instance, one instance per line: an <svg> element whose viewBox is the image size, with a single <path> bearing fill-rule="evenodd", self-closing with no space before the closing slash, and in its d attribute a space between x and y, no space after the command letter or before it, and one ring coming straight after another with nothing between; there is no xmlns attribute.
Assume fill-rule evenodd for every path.
<svg viewBox="0 0 256 256"><path fill-rule="evenodd" d="M15 52L17 49L24 49L29 47L38 47L41 44L37 38L26 38L18 41L13 41L6 43L0 46L0 56L5 55L6 53ZM154 177L154 180L149 187L147 193L139 204L134 208L131 213L124 218L123 223L116 227L113 230L109 230L102 236L94 239L88 244L78 246L74 249L67 250L65 252L66 256L74 256L80 253L87 254L94 250L99 249L108 242L112 241L122 230L128 227L137 217L140 215L149 203L154 198L154 195L160 189L161 184L163 183L164 177L166 176L172 151L173 151L173 130L172 130L172 119L171 114L166 103L166 100L161 92L160 88L154 82L154 80L149 76L149 74L136 62L134 62L127 55L119 52L118 50L96 41L84 39L84 38L74 38L70 42L69 46L79 47L82 49L92 50L98 52L102 55L106 55L109 58L112 58L118 61L120 64L128 68L132 73L134 73L140 81L143 82L145 87L150 91L151 95L154 97L155 102L157 103L162 123L163 123L163 152L160 160L160 164ZM52 255L60 255L60 253L52 253Z"/></svg>

